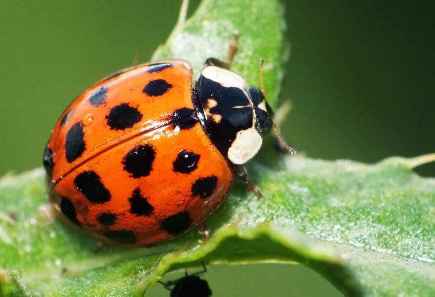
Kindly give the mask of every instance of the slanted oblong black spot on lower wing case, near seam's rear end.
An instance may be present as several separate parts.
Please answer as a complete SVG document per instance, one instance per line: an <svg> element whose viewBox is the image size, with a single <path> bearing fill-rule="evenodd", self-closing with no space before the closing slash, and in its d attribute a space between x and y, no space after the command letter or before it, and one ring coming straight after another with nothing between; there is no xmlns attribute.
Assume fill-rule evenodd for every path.
<svg viewBox="0 0 435 297"><path fill-rule="evenodd" d="M84 197L92 203L104 203L112 198L109 190L101 183L94 171L84 171L76 176L74 184Z"/></svg>

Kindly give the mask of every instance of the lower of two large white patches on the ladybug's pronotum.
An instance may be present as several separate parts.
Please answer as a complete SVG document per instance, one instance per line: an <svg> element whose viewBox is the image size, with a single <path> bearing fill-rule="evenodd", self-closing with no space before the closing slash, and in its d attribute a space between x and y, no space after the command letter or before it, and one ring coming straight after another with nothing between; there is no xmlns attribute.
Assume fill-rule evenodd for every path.
<svg viewBox="0 0 435 297"><path fill-rule="evenodd" d="M228 149L228 159L236 165L246 164L254 158L262 144L263 137L254 127L241 130Z"/></svg>

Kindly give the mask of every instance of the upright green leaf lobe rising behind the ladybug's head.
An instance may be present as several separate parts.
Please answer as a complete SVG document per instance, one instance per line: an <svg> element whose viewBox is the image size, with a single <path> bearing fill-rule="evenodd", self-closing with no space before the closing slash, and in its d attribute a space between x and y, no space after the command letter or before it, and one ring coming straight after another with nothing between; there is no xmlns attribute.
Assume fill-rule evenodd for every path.
<svg viewBox="0 0 435 297"><path fill-rule="evenodd" d="M226 60L237 34L238 51L231 70L248 84L259 86L259 59L263 58L264 87L269 104L275 107L287 57L283 51L282 12L277 0L204 0L190 19L178 21L152 60L174 57L188 60L196 78L205 59Z"/></svg>

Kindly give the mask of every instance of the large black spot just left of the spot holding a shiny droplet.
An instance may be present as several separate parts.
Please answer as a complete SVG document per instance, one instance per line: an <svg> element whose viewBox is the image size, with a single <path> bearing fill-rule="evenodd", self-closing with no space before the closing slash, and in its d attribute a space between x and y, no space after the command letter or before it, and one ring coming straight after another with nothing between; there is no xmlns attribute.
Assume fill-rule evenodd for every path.
<svg viewBox="0 0 435 297"><path fill-rule="evenodd" d="M153 146L145 144L129 151L122 160L122 164L131 177L139 178L150 175L154 159L156 159L156 152Z"/></svg>

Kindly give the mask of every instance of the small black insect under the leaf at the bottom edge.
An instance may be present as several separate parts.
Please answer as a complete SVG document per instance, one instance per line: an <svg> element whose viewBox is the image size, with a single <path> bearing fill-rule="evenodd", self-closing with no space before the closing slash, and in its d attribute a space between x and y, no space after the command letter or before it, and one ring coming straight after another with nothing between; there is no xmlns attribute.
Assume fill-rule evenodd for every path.
<svg viewBox="0 0 435 297"><path fill-rule="evenodd" d="M213 292L208 286L208 282L205 279L201 279L198 274L207 272L207 268L204 263L201 262L203 270L195 272L193 274L186 274L176 280L163 283L158 281L164 286L165 289L170 291L170 297L210 297Z"/></svg>

